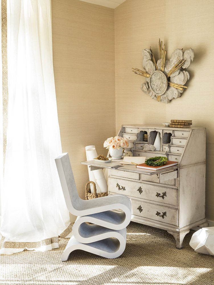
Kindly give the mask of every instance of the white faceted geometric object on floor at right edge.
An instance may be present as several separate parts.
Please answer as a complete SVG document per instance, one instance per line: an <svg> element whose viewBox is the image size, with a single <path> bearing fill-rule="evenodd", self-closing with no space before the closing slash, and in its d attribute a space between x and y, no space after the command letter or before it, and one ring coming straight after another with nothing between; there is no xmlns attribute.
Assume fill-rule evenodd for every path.
<svg viewBox="0 0 214 285"><path fill-rule="evenodd" d="M189 245L197 253L214 255L214 227L202 228L193 233Z"/></svg>

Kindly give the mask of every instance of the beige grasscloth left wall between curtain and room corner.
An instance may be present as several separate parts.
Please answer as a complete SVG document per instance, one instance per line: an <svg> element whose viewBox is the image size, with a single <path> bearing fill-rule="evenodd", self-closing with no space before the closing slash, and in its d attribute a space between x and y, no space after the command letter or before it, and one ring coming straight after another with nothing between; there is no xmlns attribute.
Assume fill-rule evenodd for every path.
<svg viewBox="0 0 214 285"><path fill-rule="evenodd" d="M62 151L68 152L84 198L85 146L115 134L114 10L78 0L52 0L53 63Z"/></svg>

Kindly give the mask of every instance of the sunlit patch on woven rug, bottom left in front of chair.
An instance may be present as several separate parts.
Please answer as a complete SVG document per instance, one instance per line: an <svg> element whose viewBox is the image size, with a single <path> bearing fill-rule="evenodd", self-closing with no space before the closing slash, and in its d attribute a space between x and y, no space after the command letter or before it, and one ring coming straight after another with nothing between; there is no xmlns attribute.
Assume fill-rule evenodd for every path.
<svg viewBox="0 0 214 285"><path fill-rule="evenodd" d="M94 278L98 274L112 270L114 265L86 265L86 264L1 264L0 284L36 284L39 281L51 284L78 284ZM49 283L50 284L50 283Z"/></svg>

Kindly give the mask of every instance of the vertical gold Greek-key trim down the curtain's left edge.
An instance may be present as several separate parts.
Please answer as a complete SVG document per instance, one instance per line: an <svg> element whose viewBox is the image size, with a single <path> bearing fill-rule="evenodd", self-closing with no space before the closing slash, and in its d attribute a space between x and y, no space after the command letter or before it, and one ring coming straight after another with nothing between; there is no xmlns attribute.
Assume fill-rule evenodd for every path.
<svg viewBox="0 0 214 285"><path fill-rule="evenodd" d="M3 152L4 163L7 146L7 110L8 110L8 77L7 77L7 0L1 0L1 52L2 52L2 96L3 96Z"/></svg>

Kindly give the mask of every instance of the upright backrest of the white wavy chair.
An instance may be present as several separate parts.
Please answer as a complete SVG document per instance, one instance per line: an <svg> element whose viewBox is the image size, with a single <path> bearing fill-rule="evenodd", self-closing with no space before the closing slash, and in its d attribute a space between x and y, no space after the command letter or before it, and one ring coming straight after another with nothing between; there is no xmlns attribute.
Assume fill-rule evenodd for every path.
<svg viewBox="0 0 214 285"><path fill-rule="evenodd" d="M76 214L76 210L80 210L83 200L80 199L76 183L74 180L73 171L70 164L68 153L63 153L55 159L56 167L59 174L59 179L62 186L66 206L68 211Z"/></svg>

